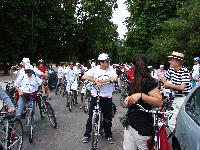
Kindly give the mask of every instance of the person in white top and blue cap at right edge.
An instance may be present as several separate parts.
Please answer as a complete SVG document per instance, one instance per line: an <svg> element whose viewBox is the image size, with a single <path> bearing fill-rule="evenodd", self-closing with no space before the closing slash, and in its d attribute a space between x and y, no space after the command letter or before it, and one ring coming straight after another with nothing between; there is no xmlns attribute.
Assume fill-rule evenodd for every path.
<svg viewBox="0 0 200 150"><path fill-rule="evenodd" d="M200 58L194 58L194 66L192 68L192 85L195 86L197 82L200 82Z"/></svg>

